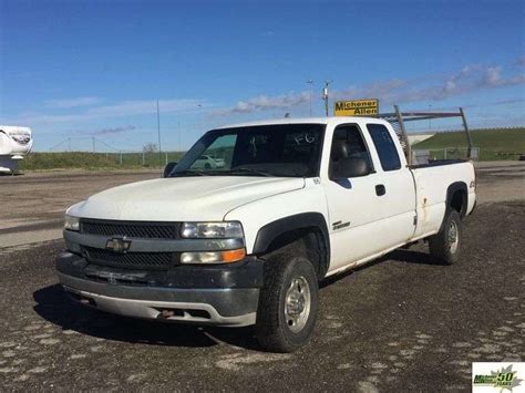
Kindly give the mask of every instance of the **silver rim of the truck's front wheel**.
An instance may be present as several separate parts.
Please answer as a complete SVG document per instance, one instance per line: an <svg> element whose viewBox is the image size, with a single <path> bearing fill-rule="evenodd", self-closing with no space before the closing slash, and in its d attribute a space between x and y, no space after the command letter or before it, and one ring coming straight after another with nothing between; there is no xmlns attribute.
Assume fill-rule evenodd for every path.
<svg viewBox="0 0 525 393"><path fill-rule="evenodd" d="M311 294L307 279L302 276L292 278L285 297L285 320L294 333L305 328L310 316L310 303Z"/></svg>

